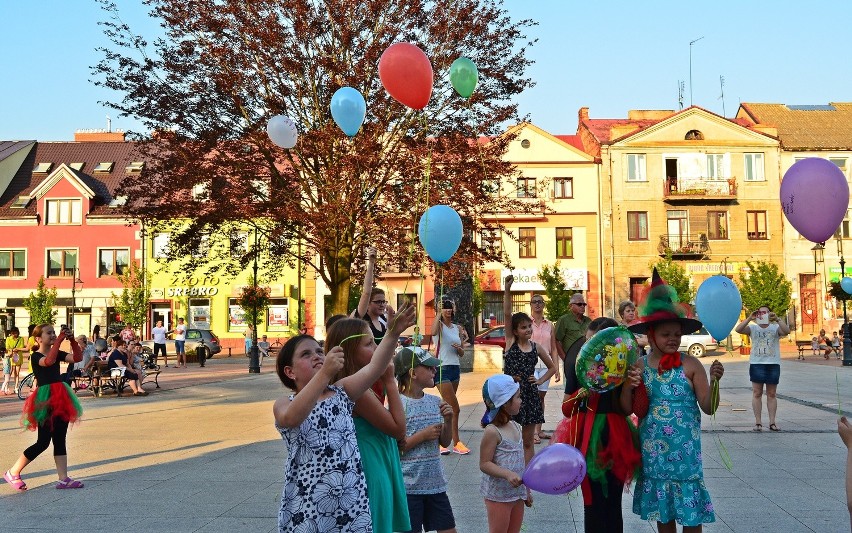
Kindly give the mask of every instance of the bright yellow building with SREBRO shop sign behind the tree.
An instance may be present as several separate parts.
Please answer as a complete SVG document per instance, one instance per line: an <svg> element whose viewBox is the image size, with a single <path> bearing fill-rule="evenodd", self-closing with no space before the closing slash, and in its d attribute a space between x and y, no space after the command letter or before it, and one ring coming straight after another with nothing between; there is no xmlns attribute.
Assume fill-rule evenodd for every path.
<svg viewBox="0 0 852 533"><path fill-rule="evenodd" d="M146 337L150 328L158 320L171 328L177 324L178 318L184 318L191 328L212 330L222 342L223 349L231 348L233 353L243 353L244 336L247 324L237 305L243 287L251 284L252 268L247 268L235 276L226 274L209 274L201 271L186 272L179 263L166 259L171 234L165 226L146 228L144 244L143 267L151 274L151 298L149 304L149 321ZM229 244L244 250L254 246L254 234L248 225L245 230L238 232L239 239ZM262 246L262 242L260 243ZM205 251L216 246L216 243L205 241ZM204 253L201 251L199 253ZM299 319L313 327L315 302L306 298L302 308L299 307L299 294L313 294L313 276L300 281L296 270L287 268L276 272L270 281L267 273L261 268L258 271L260 285L270 290L271 302L266 316L258 324L258 336L267 334L270 342L291 337L299 329Z"/></svg>

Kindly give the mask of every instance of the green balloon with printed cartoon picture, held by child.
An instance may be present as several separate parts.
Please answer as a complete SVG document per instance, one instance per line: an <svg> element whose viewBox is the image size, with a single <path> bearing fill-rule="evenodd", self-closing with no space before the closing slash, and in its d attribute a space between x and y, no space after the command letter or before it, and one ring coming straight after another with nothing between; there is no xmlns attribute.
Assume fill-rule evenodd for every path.
<svg viewBox="0 0 852 533"><path fill-rule="evenodd" d="M606 392L624 382L627 369L639 357L639 343L624 326L598 331L577 356L577 381L595 392Z"/></svg>

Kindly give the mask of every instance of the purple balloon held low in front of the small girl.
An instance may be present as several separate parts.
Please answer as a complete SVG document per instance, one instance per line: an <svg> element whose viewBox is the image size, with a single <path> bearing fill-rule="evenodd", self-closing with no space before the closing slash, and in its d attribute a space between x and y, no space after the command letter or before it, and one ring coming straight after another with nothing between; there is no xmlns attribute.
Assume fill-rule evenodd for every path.
<svg viewBox="0 0 852 533"><path fill-rule="evenodd" d="M586 458L577 448L554 443L538 452L524 470L524 485L545 494L565 494L586 477Z"/></svg>

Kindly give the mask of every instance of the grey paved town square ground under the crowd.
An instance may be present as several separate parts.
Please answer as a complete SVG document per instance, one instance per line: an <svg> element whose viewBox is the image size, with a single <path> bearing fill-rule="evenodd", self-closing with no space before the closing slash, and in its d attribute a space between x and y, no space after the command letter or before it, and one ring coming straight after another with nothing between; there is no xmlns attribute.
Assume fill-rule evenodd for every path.
<svg viewBox="0 0 852 533"><path fill-rule="evenodd" d="M720 353L703 362L714 357L726 371L716 420L703 420L705 480L717 514L705 531L849 531L846 452L835 421L838 389L843 411L852 410L852 368L785 358L778 389L782 431L754 433L748 358ZM24 471L29 491L0 488L3 530L275 531L286 452L271 409L287 391L273 365L249 375L245 357L231 359L240 361L216 359L208 368L161 376L164 386L181 382L179 372L189 381L207 372L215 382L164 387L145 398L84 398L84 421L71 430L68 445L71 473L86 488L55 490L46 452ZM462 375L462 438L473 452L443 458L459 532L487 531L477 451L481 388L489 375ZM560 402L561 387L554 386L547 429L561 418ZM16 414L0 417L0 436L4 470L35 439L20 430ZM731 471L722 464L717 437L733 461ZM625 495L625 531L656 531L631 505ZM536 494L524 522L532 533L583 531L582 498Z"/></svg>

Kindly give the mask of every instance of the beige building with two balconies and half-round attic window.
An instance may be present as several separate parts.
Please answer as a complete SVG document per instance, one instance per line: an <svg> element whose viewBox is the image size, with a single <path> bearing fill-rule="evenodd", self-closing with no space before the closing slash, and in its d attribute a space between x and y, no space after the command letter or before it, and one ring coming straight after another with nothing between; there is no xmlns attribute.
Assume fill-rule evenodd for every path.
<svg viewBox="0 0 852 533"><path fill-rule="evenodd" d="M650 265L671 254L693 288L746 260L783 262L779 143L770 128L699 107L579 112L578 135L601 161L604 313L637 300Z"/></svg>

